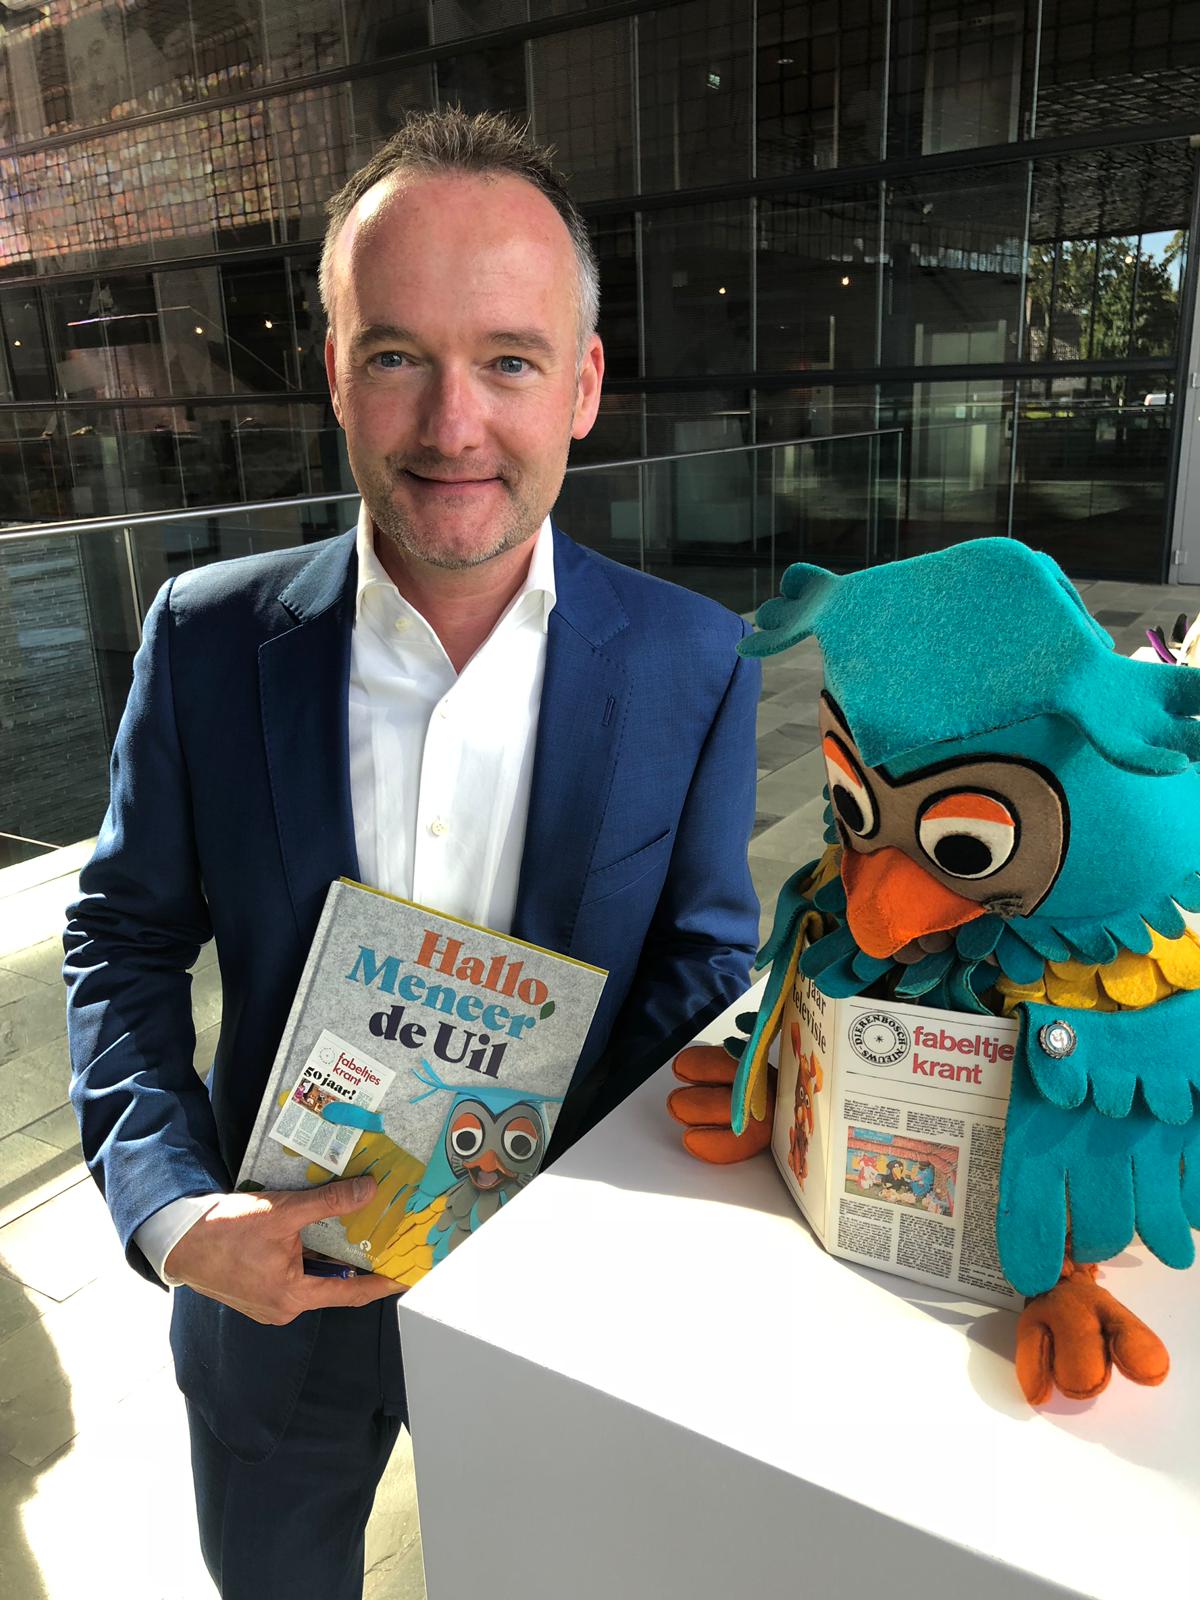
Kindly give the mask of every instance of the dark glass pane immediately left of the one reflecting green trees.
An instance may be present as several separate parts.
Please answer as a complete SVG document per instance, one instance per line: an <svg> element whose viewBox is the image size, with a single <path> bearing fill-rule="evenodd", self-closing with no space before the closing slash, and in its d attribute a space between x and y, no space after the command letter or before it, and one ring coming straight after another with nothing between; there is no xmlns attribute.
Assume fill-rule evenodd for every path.
<svg viewBox="0 0 1200 1600"><path fill-rule="evenodd" d="M883 365L1018 354L1026 165L886 184Z"/></svg>

